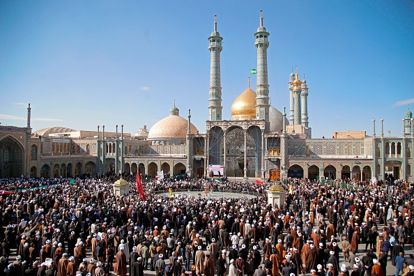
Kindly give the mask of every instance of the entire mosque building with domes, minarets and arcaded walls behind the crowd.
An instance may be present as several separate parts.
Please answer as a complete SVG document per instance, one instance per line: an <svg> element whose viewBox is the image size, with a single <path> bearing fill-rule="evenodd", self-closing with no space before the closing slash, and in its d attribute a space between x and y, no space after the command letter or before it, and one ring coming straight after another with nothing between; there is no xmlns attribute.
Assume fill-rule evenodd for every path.
<svg viewBox="0 0 414 276"><path fill-rule="evenodd" d="M208 37L210 85L206 131L199 132L174 107L169 116L151 129L135 135L123 133L123 125L112 132L53 127L32 132L29 105L25 128L0 125L0 177L55 177L108 173L164 174L214 177L222 174L245 180L277 180L287 177L351 178L378 180L392 177L413 181L414 123L409 110L402 119L401 137L366 131L333 132L330 139L312 138L307 112L307 81L298 69L289 77L289 117L270 105L267 50L270 33L260 17L254 33L257 52L256 91L250 86L231 105L231 118L222 117L220 53L222 40L215 20ZM312 93L312 91L311 91ZM107 128L108 130L108 128ZM115 130L115 131L114 131Z"/></svg>

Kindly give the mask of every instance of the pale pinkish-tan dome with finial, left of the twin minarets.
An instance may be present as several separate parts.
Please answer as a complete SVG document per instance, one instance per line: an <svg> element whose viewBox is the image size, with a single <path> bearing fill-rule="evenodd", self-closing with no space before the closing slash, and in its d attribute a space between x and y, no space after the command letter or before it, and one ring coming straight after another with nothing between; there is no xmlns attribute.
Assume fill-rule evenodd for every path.
<svg viewBox="0 0 414 276"><path fill-rule="evenodd" d="M180 110L175 103L169 114L153 125L148 133L148 140L185 139L188 121L179 115ZM197 133L197 128L192 123L190 123L190 132L191 134Z"/></svg>

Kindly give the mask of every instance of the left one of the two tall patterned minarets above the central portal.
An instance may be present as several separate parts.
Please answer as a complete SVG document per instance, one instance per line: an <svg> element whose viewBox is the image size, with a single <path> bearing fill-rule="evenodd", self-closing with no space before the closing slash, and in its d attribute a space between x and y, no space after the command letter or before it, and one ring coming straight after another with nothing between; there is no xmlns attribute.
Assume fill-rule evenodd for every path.
<svg viewBox="0 0 414 276"><path fill-rule="evenodd" d="M208 88L208 120L222 120L222 86L220 80L220 52L222 52L222 40L217 31L217 17L214 15L214 31L208 38L208 50L210 51L210 86Z"/></svg>

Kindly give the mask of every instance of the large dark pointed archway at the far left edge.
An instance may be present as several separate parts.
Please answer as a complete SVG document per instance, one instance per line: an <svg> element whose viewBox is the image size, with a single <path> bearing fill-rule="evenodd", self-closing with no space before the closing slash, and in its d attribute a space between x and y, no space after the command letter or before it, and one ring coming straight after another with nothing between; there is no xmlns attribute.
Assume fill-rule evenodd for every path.
<svg viewBox="0 0 414 276"><path fill-rule="evenodd" d="M23 174L23 147L12 137L0 141L0 178Z"/></svg>

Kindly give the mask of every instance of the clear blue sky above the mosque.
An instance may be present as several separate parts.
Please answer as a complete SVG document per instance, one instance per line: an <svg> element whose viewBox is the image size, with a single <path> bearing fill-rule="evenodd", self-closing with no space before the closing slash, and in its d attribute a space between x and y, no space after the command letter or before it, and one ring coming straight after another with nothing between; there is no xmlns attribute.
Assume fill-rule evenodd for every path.
<svg viewBox="0 0 414 276"><path fill-rule="evenodd" d="M223 118L256 68L259 10L270 32L271 104L289 110L292 66L309 86L313 137L367 130L401 136L414 111L413 1L2 1L0 122L134 134L174 105L206 132L217 15ZM252 76L255 90L256 76ZM289 116L289 112L288 112Z"/></svg>

